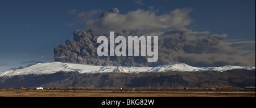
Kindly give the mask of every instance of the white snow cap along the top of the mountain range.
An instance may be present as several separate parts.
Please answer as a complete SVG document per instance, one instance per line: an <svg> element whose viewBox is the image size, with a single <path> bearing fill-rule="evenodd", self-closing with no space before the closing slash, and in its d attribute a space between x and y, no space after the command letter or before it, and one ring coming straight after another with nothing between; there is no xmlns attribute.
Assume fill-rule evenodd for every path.
<svg viewBox="0 0 256 108"><path fill-rule="evenodd" d="M78 71L83 73L102 73L102 72L125 72L125 73L139 73L139 72L164 72L164 71L227 71L227 70L253 70L255 67L250 66L222 66L222 67L192 67L188 64L179 63L174 65L162 65L157 67L125 67L125 66L90 66L85 64L74 63L61 63L61 62L49 62L38 63L34 65L22 66L18 68L12 68L10 70L0 72L1 76L15 76L15 75L41 75L41 74L53 74L59 71Z"/></svg>

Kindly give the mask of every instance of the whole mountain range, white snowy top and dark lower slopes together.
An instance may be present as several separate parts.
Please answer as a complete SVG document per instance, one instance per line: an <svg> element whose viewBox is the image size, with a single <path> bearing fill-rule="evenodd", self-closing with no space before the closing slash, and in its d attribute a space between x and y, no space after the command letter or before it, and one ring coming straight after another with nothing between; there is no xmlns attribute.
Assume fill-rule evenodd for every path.
<svg viewBox="0 0 256 108"><path fill-rule="evenodd" d="M49 62L0 72L0 88L244 88L255 86L255 67L89 66Z"/></svg>

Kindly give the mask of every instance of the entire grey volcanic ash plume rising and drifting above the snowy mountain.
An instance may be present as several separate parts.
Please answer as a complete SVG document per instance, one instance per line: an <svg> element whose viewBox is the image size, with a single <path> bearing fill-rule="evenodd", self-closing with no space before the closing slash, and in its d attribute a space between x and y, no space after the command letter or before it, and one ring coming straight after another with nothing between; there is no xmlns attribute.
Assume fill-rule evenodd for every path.
<svg viewBox="0 0 256 108"><path fill-rule="evenodd" d="M178 8L170 14L156 15L156 11L136 10L122 15L117 8L113 8L102 13L99 19L86 21L84 29L73 31L73 41L69 39L65 44L55 47L55 61L97 66L159 66L175 63L197 67L255 66L255 48L243 50L237 47L247 42L225 42L222 40L227 34L193 32L185 28L191 23L188 15L191 11L190 8ZM124 36L126 40L128 36L159 36L158 61L147 62L147 55L98 56L97 47L100 44L97 38L109 38L110 31L115 32L115 37ZM255 41L253 44L255 46Z"/></svg>

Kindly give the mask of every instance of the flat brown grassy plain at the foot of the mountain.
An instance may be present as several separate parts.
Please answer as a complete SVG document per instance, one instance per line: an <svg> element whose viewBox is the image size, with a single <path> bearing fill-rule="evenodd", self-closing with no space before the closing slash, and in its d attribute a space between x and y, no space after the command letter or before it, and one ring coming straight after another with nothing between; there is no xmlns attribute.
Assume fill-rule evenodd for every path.
<svg viewBox="0 0 256 108"><path fill-rule="evenodd" d="M0 89L0 97L255 97L241 89Z"/></svg>

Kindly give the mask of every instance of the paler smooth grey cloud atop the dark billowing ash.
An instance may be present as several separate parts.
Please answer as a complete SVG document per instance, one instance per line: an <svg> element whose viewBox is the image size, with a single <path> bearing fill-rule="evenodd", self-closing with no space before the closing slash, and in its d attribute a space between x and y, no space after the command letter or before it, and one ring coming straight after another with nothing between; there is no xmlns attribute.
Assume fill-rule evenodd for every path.
<svg viewBox="0 0 256 108"><path fill-rule="evenodd" d="M145 31L160 32L164 29L183 28L192 23L189 17L191 8L177 8L168 14L157 15L154 10L135 10L127 14L119 14L117 8L105 11L99 19L90 19L85 22L86 29L95 29L93 33L108 33L109 31Z"/></svg>

